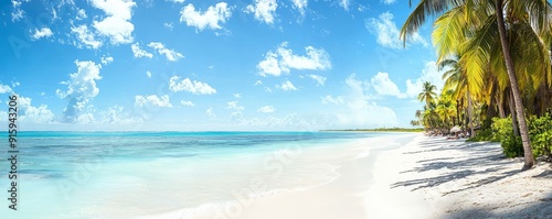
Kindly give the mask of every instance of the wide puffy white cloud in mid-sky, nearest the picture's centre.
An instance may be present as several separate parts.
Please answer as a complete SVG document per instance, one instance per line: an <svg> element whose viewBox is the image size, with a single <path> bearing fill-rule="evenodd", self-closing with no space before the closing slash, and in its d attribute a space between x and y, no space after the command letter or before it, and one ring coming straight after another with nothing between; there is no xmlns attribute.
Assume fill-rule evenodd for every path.
<svg viewBox="0 0 552 219"><path fill-rule="evenodd" d="M326 70L331 68L330 55L323 48L312 46L305 47L307 56L294 54L287 48L287 42L282 43L276 53L268 51L265 59L257 64L262 76L280 76L282 73L288 74L290 69L298 70Z"/></svg>

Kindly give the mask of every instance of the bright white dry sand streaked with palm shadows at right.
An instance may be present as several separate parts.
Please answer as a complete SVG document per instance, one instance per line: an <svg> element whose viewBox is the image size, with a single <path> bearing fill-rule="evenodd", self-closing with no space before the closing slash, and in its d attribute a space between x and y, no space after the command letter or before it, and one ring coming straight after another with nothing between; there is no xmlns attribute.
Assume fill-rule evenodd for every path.
<svg viewBox="0 0 552 219"><path fill-rule="evenodd" d="M418 136L378 157L367 211L369 218L551 218L550 164L520 172L522 165L505 158L498 143Z"/></svg>

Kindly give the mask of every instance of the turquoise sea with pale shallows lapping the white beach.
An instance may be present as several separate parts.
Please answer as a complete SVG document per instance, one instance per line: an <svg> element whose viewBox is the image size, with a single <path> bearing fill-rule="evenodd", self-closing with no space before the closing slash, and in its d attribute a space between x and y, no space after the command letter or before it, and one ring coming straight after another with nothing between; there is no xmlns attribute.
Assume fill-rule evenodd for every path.
<svg viewBox="0 0 552 219"><path fill-rule="evenodd" d="M12 180L4 133L0 218L233 218L257 197L332 182L379 136L392 133L20 132Z"/></svg>

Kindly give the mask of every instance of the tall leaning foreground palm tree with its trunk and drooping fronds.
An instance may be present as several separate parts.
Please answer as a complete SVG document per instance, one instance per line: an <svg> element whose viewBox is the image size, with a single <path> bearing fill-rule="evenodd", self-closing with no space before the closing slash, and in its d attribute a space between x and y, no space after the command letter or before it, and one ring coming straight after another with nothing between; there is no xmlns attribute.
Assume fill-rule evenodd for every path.
<svg viewBox="0 0 552 219"><path fill-rule="evenodd" d="M412 6L412 0L410 3ZM488 69L489 63L491 63L492 56L490 56L490 54L497 51L495 50L496 47L501 48L501 55L505 61L505 65L502 66L506 66L505 72L508 74L523 142L526 162L522 169L531 168L534 161L524 118L524 107L518 84L518 79L520 78L517 77L517 73L527 76L529 73L534 74L537 70L541 70L541 74L550 76L550 55L546 45L550 45L552 39L550 22L548 20L552 14L551 8L551 4L543 0L506 0L506 2L503 0L421 0L401 30L401 37L406 42L406 36L416 32L427 17L438 15L444 12L455 13L455 18L459 18L464 14L464 20L454 20L460 22L452 23L447 26L452 31L446 32L448 34L445 34L442 41L445 42L445 47L444 50L442 48L442 51L446 52L447 48L457 47L457 44L459 44L456 42L456 40L458 40L458 34L454 35L454 32L464 28L459 33L468 33L469 36L473 37L473 41L463 45L461 47L464 48L460 52L465 53L463 59L471 61L466 62L470 64L466 66L467 72L476 76L474 78L479 86L482 81L478 79L482 78L481 76ZM507 12L507 17L505 17L503 11ZM460 14L460 12L464 13ZM448 15L453 17L453 14ZM482 19L478 20L477 18ZM506 29L507 23L509 32L507 32ZM523 35L522 37L516 37L521 34ZM497 35L499 36L500 46L495 46ZM510 50L513 47L520 48L517 51L520 53L516 53L516 56L511 55ZM529 58L532 61L523 62ZM542 62L542 64L539 63L535 65L535 61ZM514 63L517 63L516 66ZM498 66L498 69L493 70L500 72L501 68L503 69L502 66ZM493 67L497 66L495 65ZM533 78L539 79L539 77ZM521 79L524 78L521 77ZM552 80L551 77L548 77L548 79ZM524 85L523 83L521 84ZM535 83L534 85L540 84L541 83ZM552 81L548 84L551 85Z"/></svg>

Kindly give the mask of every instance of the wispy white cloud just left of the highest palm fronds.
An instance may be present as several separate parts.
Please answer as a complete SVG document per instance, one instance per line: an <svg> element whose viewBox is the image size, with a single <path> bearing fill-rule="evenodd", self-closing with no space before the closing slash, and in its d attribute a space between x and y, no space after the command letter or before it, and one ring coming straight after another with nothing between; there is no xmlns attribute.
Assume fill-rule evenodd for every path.
<svg viewBox="0 0 552 219"><path fill-rule="evenodd" d="M378 44L390 47L390 48L402 48L403 41L399 37L399 29L396 28L395 22L393 22L393 14L390 12L384 12L380 14L379 19L371 18L365 22L367 29L370 33L374 34L378 40ZM408 37L408 43L413 44L422 44L427 46L427 42L418 34L414 33Z"/></svg>

